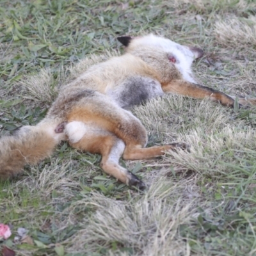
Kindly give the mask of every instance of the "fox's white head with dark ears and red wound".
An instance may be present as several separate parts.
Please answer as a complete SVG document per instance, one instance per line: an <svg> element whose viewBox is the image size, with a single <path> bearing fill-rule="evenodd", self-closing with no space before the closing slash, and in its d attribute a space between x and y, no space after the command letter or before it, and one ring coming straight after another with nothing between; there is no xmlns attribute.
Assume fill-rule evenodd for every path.
<svg viewBox="0 0 256 256"><path fill-rule="evenodd" d="M172 79L182 78L188 82L196 83L191 71L191 64L193 60L203 56L204 51L202 49L180 45L167 38L152 34L134 38L119 36L117 39L125 46L126 52L140 56L148 64L155 65L159 73L167 70L168 65L170 65L179 70L179 74L175 74L175 70L172 69L172 74L169 74L169 76L172 75Z"/></svg>

